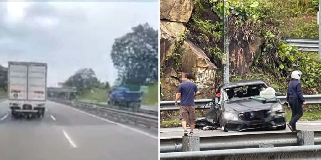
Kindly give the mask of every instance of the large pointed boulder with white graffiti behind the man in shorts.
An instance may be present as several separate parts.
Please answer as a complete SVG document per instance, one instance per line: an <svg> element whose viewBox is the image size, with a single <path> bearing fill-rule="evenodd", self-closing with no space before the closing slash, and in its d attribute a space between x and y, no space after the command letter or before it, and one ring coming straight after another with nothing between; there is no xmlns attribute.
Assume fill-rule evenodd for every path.
<svg viewBox="0 0 321 160"><path fill-rule="evenodd" d="M187 40L181 47L181 68L195 79L201 94L198 99L213 97L217 67L204 51Z"/></svg>

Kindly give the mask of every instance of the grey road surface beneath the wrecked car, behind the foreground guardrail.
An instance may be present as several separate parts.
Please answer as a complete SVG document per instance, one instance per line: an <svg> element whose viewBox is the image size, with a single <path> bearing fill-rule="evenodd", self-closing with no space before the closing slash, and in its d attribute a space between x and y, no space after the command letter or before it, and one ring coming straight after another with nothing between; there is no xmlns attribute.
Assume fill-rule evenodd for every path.
<svg viewBox="0 0 321 160"><path fill-rule="evenodd" d="M298 130L305 131L321 131L321 121L299 121L296 123ZM188 132L190 129L187 129ZM171 139L171 138L182 138L183 136L182 127L169 127L160 128L160 139ZM243 131L243 132L224 132L221 129L213 131L194 130L194 136L200 137L212 137L212 136L229 136L229 135L245 135L245 134L264 134L264 133L280 133L280 132L291 132L287 127L286 130L275 130L273 128Z"/></svg>

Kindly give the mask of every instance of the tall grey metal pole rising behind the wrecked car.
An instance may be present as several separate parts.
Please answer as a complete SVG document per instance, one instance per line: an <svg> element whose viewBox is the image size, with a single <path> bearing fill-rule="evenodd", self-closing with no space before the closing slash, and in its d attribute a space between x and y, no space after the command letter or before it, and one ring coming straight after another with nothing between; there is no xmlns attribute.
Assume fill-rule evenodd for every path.
<svg viewBox="0 0 321 160"><path fill-rule="evenodd" d="M320 0L321 1L321 0ZM222 64L223 64L223 81L224 83L229 82L229 26L228 26L228 15L227 15L227 9L226 8L227 0L224 0L224 6L223 6L223 45L224 45L224 51L222 56Z"/></svg>

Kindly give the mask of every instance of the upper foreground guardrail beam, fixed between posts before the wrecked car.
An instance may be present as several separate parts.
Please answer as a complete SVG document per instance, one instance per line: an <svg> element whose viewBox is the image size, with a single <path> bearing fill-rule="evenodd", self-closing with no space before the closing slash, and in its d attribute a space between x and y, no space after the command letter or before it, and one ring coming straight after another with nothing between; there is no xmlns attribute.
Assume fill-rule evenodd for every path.
<svg viewBox="0 0 321 160"><path fill-rule="evenodd" d="M297 146L296 132L200 137L200 150L257 148L259 143L275 147ZM321 145L321 131L314 132L314 143ZM160 139L160 153L181 152L182 138Z"/></svg>

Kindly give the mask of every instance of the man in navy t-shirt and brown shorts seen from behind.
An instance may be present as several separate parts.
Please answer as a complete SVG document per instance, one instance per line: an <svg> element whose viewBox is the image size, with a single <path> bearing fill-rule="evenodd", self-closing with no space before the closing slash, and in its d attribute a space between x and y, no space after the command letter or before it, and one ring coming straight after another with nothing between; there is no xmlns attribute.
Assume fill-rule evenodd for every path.
<svg viewBox="0 0 321 160"><path fill-rule="evenodd" d="M181 97L179 107L179 120L181 121L184 129L184 136L188 135L188 132L186 130L187 117L189 119L189 125L191 127L189 135L194 135L193 129L196 118L194 97L200 94L197 85L191 82L190 79L191 76L188 73L182 73L182 83L178 86L175 98L175 106L177 107L177 101Z"/></svg>

